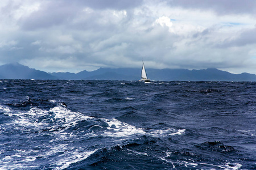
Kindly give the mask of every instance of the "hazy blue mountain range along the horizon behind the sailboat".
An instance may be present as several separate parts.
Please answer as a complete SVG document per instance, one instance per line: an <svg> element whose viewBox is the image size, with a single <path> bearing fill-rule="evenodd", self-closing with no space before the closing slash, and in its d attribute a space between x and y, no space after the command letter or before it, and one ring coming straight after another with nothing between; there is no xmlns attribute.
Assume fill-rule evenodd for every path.
<svg viewBox="0 0 256 170"><path fill-rule="evenodd" d="M151 80L162 81L256 81L255 74L232 74L218 69L147 69L147 75ZM0 66L0 79L139 80L141 79L141 68L100 68L95 71L84 70L79 73L46 73L19 63L9 63Z"/></svg>

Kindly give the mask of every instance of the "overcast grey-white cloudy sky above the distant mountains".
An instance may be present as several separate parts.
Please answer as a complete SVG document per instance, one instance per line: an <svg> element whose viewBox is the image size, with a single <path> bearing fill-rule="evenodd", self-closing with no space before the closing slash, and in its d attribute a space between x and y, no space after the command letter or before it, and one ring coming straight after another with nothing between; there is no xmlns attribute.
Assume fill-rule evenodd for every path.
<svg viewBox="0 0 256 170"><path fill-rule="evenodd" d="M255 0L1 0L0 65L256 74Z"/></svg>

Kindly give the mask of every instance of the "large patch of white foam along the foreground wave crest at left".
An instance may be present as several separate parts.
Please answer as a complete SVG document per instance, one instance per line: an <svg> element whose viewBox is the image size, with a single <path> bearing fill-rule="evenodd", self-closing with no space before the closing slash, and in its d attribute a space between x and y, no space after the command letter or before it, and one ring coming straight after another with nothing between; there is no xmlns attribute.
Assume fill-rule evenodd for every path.
<svg viewBox="0 0 256 170"><path fill-rule="evenodd" d="M0 109L6 108L1 107ZM9 112L11 113L11 111L7 109L7 113ZM11 115L10 113L9 115ZM27 112L17 112L12 114L15 114L15 116L19 118L14 122L9 123L8 125L15 126L21 131L31 131L31 129L40 131L48 127L50 128L49 131L51 133L57 135L56 140L66 137L67 134L65 134L63 131L71 126L75 126L79 121L96 121L96 125L94 125L93 127L100 127L100 125L97 125L98 119L86 116L79 112L72 112L66 107L62 106L51 108L49 109L49 111L32 107ZM48 117L46 119L38 121L39 118L42 116ZM100 131L100 133L98 134L97 132L95 132L94 135L102 135L103 133L104 135L109 137L127 137L129 135L145 133L140 128L136 128L135 126L118 121L114 118L111 120L102 118L100 120L106 122L106 124L108 124L108 127L106 127L106 129L102 129L102 131ZM55 122L55 124L52 125L51 122ZM51 124L51 126L49 124ZM56 130L59 128L60 124L63 128L61 130Z"/></svg>

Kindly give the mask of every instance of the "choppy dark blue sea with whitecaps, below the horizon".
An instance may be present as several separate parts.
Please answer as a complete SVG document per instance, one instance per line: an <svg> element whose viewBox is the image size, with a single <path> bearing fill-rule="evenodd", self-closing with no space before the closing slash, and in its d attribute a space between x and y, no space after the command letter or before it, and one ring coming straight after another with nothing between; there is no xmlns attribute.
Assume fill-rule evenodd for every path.
<svg viewBox="0 0 256 170"><path fill-rule="evenodd" d="M256 82L1 80L0 169L256 169Z"/></svg>

